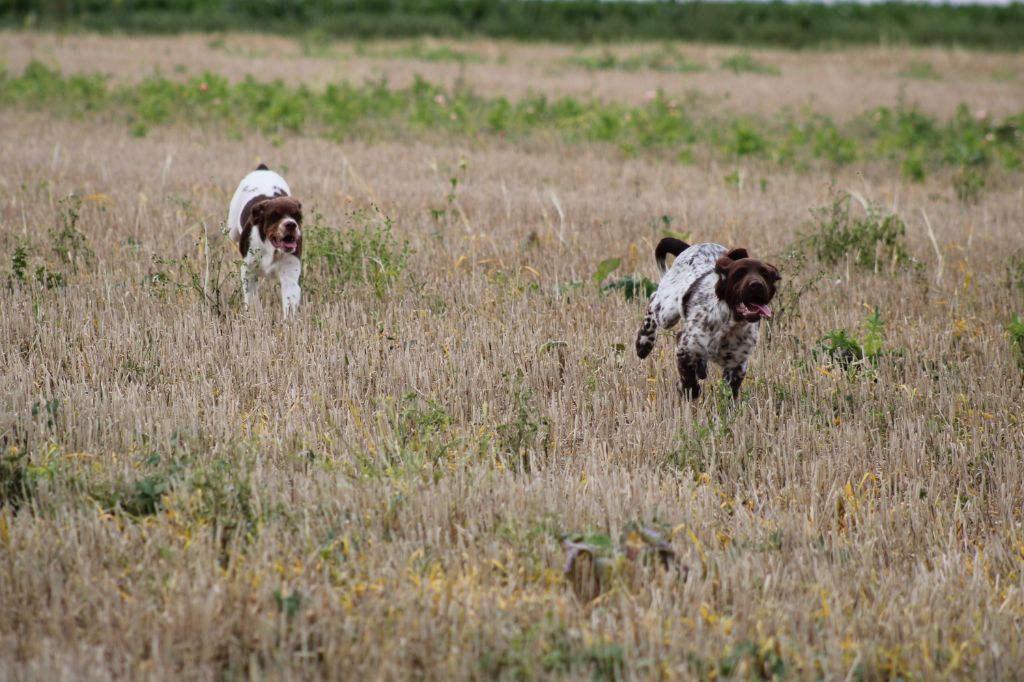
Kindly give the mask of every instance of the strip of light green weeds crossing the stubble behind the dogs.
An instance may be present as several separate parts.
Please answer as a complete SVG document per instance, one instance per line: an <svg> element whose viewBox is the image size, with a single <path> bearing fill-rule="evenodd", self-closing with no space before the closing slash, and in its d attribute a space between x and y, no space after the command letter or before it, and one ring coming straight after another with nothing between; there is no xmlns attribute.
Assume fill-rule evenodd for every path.
<svg viewBox="0 0 1024 682"><path fill-rule="evenodd" d="M664 92L629 105L541 94L487 97L420 78L406 88L380 81L331 84L323 91L253 78L232 84L210 73L183 82L154 75L116 85L105 76L63 76L33 62L20 76L0 73L0 105L69 116L114 113L140 136L176 122L223 126L232 134L258 129L332 140L439 134L525 139L544 133L566 143L604 143L683 163L698 154L764 159L798 170L820 163L897 163L913 180L942 167L980 174L989 168L1015 171L1024 162L1024 112L994 121L966 104L948 121L898 105L839 123L812 112L770 118L713 113L700 99Z"/></svg>

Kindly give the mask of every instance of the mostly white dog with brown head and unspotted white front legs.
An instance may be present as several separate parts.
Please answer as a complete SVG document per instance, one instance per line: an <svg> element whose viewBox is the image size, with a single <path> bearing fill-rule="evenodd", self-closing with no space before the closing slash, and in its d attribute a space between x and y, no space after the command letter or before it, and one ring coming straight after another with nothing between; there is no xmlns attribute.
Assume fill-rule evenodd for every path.
<svg viewBox="0 0 1024 682"><path fill-rule="evenodd" d="M293 312L302 299L302 205L285 178L263 164L242 178L227 227L242 253L246 307L259 302L259 278L276 276L285 315Z"/></svg>

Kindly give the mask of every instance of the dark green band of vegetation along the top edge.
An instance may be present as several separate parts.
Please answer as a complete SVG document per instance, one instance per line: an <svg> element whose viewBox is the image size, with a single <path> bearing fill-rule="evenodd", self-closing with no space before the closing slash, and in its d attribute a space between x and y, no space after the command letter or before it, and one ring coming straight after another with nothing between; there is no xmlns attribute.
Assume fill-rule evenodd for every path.
<svg viewBox="0 0 1024 682"><path fill-rule="evenodd" d="M780 47L895 43L1019 49L1024 3L597 0L0 0L8 28L125 32L272 30L338 38L489 36L685 40Z"/></svg>

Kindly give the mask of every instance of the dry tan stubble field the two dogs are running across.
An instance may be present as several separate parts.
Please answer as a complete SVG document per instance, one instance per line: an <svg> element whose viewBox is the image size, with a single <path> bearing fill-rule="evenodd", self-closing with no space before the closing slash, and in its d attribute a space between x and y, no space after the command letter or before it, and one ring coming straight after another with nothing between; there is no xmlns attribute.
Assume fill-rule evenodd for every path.
<svg viewBox="0 0 1024 682"><path fill-rule="evenodd" d="M197 37L6 34L3 56L312 87L460 69L368 44L348 72L336 54L357 46L293 62L294 43L250 38L223 43L257 61L210 63ZM1024 110L1019 79L977 76L1019 55L757 52L781 74L605 80L571 48L456 47L493 55L465 67L474 87L511 94ZM920 62L958 66L900 86ZM557 136L133 136L16 103L0 130L0 680L1021 674L1021 171L961 201L952 168L684 164ZM323 226L287 322L275 286L242 308L220 232L261 161ZM849 190L902 218L916 264L809 246ZM633 351L644 295L594 281L608 258L604 284L656 280L666 229L782 270L735 404L717 370L684 402L673 337ZM581 537L599 580L564 573Z"/></svg>

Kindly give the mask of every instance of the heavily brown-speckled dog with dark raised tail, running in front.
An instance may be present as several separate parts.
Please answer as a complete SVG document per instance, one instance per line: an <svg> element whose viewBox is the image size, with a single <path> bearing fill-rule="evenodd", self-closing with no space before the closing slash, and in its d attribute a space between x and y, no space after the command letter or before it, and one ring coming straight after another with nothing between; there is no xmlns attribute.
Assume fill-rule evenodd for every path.
<svg viewBox="0 0 1024 682"><path fill-rule="evenodd" d="M676 256L666 272L665 257ZM723 368L732 388L746 376L746 363L758 345L762 317L771 317L768 303L781 279L773 265L749 258L746 249L727 250L720 244L689 246L667 238L654 249L664 273L651 294L647 315L637 332L641 359L654 348L657 330L683 321L676 339L679 390L690 398L700 395L698 379L708 377L708 360Z"/></svg>

